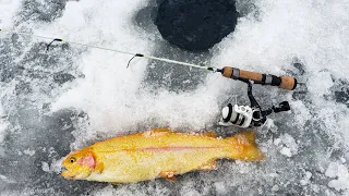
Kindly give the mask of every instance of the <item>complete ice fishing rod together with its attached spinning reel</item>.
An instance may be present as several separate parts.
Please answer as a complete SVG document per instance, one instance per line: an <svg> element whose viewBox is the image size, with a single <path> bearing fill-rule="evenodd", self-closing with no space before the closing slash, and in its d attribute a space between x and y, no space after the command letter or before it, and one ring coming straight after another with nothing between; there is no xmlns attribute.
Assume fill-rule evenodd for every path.
<svg viewBox="0 0 349 196"><path fill-rule="evenodd" d="M23 35L23 36L32 36L32 37L37 37L37 38L41 38L41 39L49 39L51 41L47 45L46 51L49 50L49 47L55 41L67 42L67 44L83 46L83 47L87 47L87 48L95 48L95 49L113 51L113 52L118 52L118 53L133 56L132 59L128 63L128 68L129 68L131 61L135 57L140 57L140 58L153 59L153 60L157 60L157 61L180 64L180 65L185 65L185 66L191 66L191 68L196 68L196 69L203 69L203 70L212 71L214 73L218 72L224 77L246 83L248 84L248 96L249 96L251 105L250 106L238 106L237 103L234 103L234 106L232 106L231 103L229 103L227 107L222 108L222 110L221 110L222 117L218 122L218 124L221 126L239 126L239 127L262 126L263 124L265 124L265 122L267 120L267 115L269 115L270 113L273 113L273 112L278 113L278 112L290 110L290 106L289 106L288 101L282 101L278 106L273 106L272 108L269 108L267 110L263 110L252 95L252 84L278 86L281 89L288 89L288 90L293 90L297 87L297 84L302 84L302 83L298 83L297 79L292 76L286 76L286 75L285 76L276 76L276 75L272 75L272 74L262 74L258 72L245 71L245 70L240 70L237 68L231 68L231 66L224 66L222 69L217 69L214 66L205 66L205 65L192 64L192 63L174 61L174 60L164 59L164 58L158 58L158 57L153 57L153 56L146 56L143 53L132 53L132 52L127 52L127 51L117 50L117 49L112 49L112 48L105 48L105 47L98 47L98 46L93 46L93 45L86 45L86 44L81 44L81 42L76 42L76 41L65 40L62 38L52 38L52 37L22 33L22 32L5 30L5 29L1 29L1 28L0 28L0 32L8 32L8 33Z"/></svg>

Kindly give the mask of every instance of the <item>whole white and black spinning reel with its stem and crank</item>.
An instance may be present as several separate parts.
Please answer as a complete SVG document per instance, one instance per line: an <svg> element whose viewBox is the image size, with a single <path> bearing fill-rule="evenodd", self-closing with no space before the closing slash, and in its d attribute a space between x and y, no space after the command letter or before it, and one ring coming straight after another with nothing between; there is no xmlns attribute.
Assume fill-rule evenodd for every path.
<svg viewBox="0 0 349 196"><path fill-rule="evenodd" d="M290 110L290 105L288 103L288 101L282 101L277 107L273 106L267 110L262 110L261 106L252 95L253 81L240 81L245 82L249 85L248 96L251 106L238 106L237 103L232 106L231 103L229 103L221 110L222 118L218 123L219 125L239 127L262 126L266 122L267 115L269 115L270 113L278 113Z"/></svg>

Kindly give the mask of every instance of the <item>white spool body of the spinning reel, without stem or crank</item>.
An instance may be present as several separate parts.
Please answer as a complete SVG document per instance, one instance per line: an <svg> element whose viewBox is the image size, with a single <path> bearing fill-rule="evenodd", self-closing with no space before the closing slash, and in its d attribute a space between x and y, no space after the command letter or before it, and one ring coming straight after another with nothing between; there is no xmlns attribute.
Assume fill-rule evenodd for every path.
<svg viewBox="0 0 349 196"><path fill-rule="evenodd" d="M253 120L253 112L249 106L234 105L232 107L229 103L221 110L222 118L218 124L221 126L249 127Z"/></svg>

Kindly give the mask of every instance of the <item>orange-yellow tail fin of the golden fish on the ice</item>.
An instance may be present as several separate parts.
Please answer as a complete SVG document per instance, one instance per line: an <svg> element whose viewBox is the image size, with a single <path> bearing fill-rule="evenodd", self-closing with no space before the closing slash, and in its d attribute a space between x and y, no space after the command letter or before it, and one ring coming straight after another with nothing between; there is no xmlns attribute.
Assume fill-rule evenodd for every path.
<svg viewBox="0 0 349 196"><path fill-rule="evenodd" d="M264 156L255 143L255 132L239 133L226 138L230 144L229 158L245 161L263 160Z"/></svg>

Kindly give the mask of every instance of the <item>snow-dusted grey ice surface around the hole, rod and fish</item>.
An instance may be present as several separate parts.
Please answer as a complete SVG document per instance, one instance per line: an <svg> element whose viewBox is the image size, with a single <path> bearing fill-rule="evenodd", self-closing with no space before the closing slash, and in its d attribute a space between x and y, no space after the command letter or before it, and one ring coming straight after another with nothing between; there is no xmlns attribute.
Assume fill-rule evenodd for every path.
<svg viewBox="0 0 349 196"><path fill-rule="evenodd" d="M1 4L2 3L2 4ZM292 74L297 91L254 87L262 106L288 100L292 112L256 128L263 162L219 161L217 171L177 182L125 185L68 181L59 162L71 150L116 135L170 126L216 126L231 94L245 85L205 71L1 33L1 195L348 195L349 4L238 1L237 32L206 53L161 40L147 1L0 1L0 25L17 30L216 66ZM151 7L151 8L148 8ZM142 11L143 13L141 13ZM13 15L13 17L11 17ZM301 62L301 63L294 63ZM191 72L189 72L191 71Z"/></svg>

